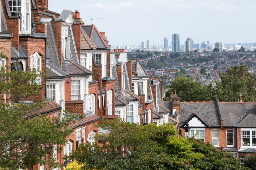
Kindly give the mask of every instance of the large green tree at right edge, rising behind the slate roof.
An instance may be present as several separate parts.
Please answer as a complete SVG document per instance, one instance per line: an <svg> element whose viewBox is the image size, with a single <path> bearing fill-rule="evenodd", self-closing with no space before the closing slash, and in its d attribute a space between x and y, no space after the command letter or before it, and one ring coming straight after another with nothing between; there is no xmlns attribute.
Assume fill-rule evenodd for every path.
<svg viewBox="0 0 256 170"><path fill-rule="evenodd" d="M256 75L248 73L246 65L231 67L225 73L219 71L221 82L216 81L215 99L235 102L237 94L242 94L243 101L255 101Z"/></svg>

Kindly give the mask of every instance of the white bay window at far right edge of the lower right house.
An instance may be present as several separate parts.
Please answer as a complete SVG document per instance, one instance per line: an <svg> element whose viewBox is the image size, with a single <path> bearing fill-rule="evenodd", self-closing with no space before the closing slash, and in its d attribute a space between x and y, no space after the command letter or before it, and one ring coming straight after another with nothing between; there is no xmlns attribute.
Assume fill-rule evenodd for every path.
<svg viewBox="0 0 256 170"><path fill-rule="evenodd" d="M241 130L241 146L256 147L256 130Z"/></svg>

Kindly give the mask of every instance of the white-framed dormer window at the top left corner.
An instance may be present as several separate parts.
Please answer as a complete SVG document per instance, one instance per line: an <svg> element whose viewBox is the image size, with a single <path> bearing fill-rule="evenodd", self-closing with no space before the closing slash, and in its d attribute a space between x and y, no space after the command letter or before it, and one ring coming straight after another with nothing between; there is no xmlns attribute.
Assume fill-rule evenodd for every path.
<svg viewBox="0 0 256 170"><path fill-rule="evenodd" d="M20 16L19 33L31 33L30 0L8 0L11 16Z"/></svg>

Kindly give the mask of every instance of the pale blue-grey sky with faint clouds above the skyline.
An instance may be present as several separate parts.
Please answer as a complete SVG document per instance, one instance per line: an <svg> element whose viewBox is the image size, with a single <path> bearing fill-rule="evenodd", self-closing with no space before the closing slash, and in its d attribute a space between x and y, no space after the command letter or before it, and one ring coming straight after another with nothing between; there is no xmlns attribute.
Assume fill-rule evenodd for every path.
<svg viewBox="0 0 256 170"><path fill-rule="evenodd" d="M132 45L151 40L163 44L164 37L178 33L187 37L225 43L256 42L255 0L50 0L49 10L79 10L85 24L106 32L109 44Z"/></svg>

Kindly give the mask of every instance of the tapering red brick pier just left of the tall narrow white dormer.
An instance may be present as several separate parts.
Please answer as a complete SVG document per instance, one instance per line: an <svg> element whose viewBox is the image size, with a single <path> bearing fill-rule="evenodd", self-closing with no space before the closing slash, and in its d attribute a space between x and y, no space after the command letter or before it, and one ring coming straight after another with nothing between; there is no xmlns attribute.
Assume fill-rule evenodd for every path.
<svg viewBox="0 0 256 170"><path fill-rule="evenodd" d="M62 68L62 50L61 50L61 27L62 23L61 22L55 22L51 21L51 26L53 28L53 34L54 34L54 40L55 40L55 45L57 48L58 52L58 57L59 57L59 63Z"/></svg>

